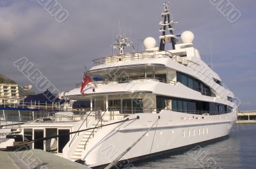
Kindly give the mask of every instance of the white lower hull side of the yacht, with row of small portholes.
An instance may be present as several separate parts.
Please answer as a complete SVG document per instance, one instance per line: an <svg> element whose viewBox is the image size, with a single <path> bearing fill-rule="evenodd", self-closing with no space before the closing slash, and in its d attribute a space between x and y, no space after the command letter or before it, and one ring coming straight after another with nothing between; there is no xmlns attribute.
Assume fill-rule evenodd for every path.
<svg viewBox="0 0 256 169"><path fill-rule="evenodd" d="M147 134L120 161L125 161L127 165L138 159L192 149L198 144L214 142L228 136L236 121L234 113L194 115L163 110L160 114L138 115L139 120L100 129L86 145L82 159L92 167L111 163L144 133ZM130 118L132 117L136 115L131 115ZM150 129L158 117L160 119Z"/></svg>

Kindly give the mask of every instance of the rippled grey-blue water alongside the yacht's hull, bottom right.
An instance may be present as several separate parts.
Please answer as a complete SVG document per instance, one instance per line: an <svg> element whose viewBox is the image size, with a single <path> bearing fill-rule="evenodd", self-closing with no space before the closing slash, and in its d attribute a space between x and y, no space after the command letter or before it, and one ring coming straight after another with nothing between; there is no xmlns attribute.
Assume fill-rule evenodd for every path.
<svg viewBox="0 0 256 169"><path fill-rule="evenodd" d="M135 166L137 169L256 168L256 124L235 124L226 140Z"/></svg>

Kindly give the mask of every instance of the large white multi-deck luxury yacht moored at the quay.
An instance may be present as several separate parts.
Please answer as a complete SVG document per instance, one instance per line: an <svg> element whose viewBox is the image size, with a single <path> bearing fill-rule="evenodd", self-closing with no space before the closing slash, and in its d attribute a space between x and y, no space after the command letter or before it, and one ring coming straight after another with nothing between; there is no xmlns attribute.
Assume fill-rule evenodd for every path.
<svg viewBox="0 0 256 169"><path fill-rule="evenodd" d="M68 99L90 101L90 110L72 118L54 117L56 122L22 125L24 138L35 140L31 148L86 161L91 167L114 160L128 166L134 160L228 136L237 120L234 94L202 61L193 33L184 31L177 43L176 22L166 3L161 16L159 47L148 37L145 51L125 53L131 42L120 35L113 44L119 54L93 60L95 65L87 72L101 80L65 94ZM63 135L71 132L75 133ZM52 135L60 136L38 141Z"/></svg>

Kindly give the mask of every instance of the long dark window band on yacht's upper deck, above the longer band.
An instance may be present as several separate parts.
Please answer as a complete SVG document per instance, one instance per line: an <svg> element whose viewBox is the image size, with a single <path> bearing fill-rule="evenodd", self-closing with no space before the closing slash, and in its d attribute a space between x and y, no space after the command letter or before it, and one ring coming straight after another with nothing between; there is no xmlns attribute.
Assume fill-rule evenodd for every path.
<svg viewBox="0 0 256 169"><path fill-rule="evenodd" d="M186 85L190 89L201 92L202 95L215 97L209 86L184 73L177 72L177 82Z"/></svg>

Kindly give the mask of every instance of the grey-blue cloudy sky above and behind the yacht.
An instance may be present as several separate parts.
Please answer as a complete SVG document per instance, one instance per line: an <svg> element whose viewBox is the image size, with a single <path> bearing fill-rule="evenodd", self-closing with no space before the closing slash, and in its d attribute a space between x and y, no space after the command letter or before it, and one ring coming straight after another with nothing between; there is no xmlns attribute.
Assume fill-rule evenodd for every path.
<svg viewBox="0 0 256 169"><path fill-rule="evenodd" d="M0 74L20 85L35 86L13 66L26 57L60 91L70 91L81 82L84 66L91 68L93 59L111 55L119 20L128 35L131 30L136 49L138 40L158 40L164 1L54 0L68 13L65 20L45 10L46 1L52 0L0 0ZM211 1L170 0L178 22L174 33L192 31L194 47L241 100L240 110L256 110L256 1L225 0L241 13L234 23Z"/></svg>

